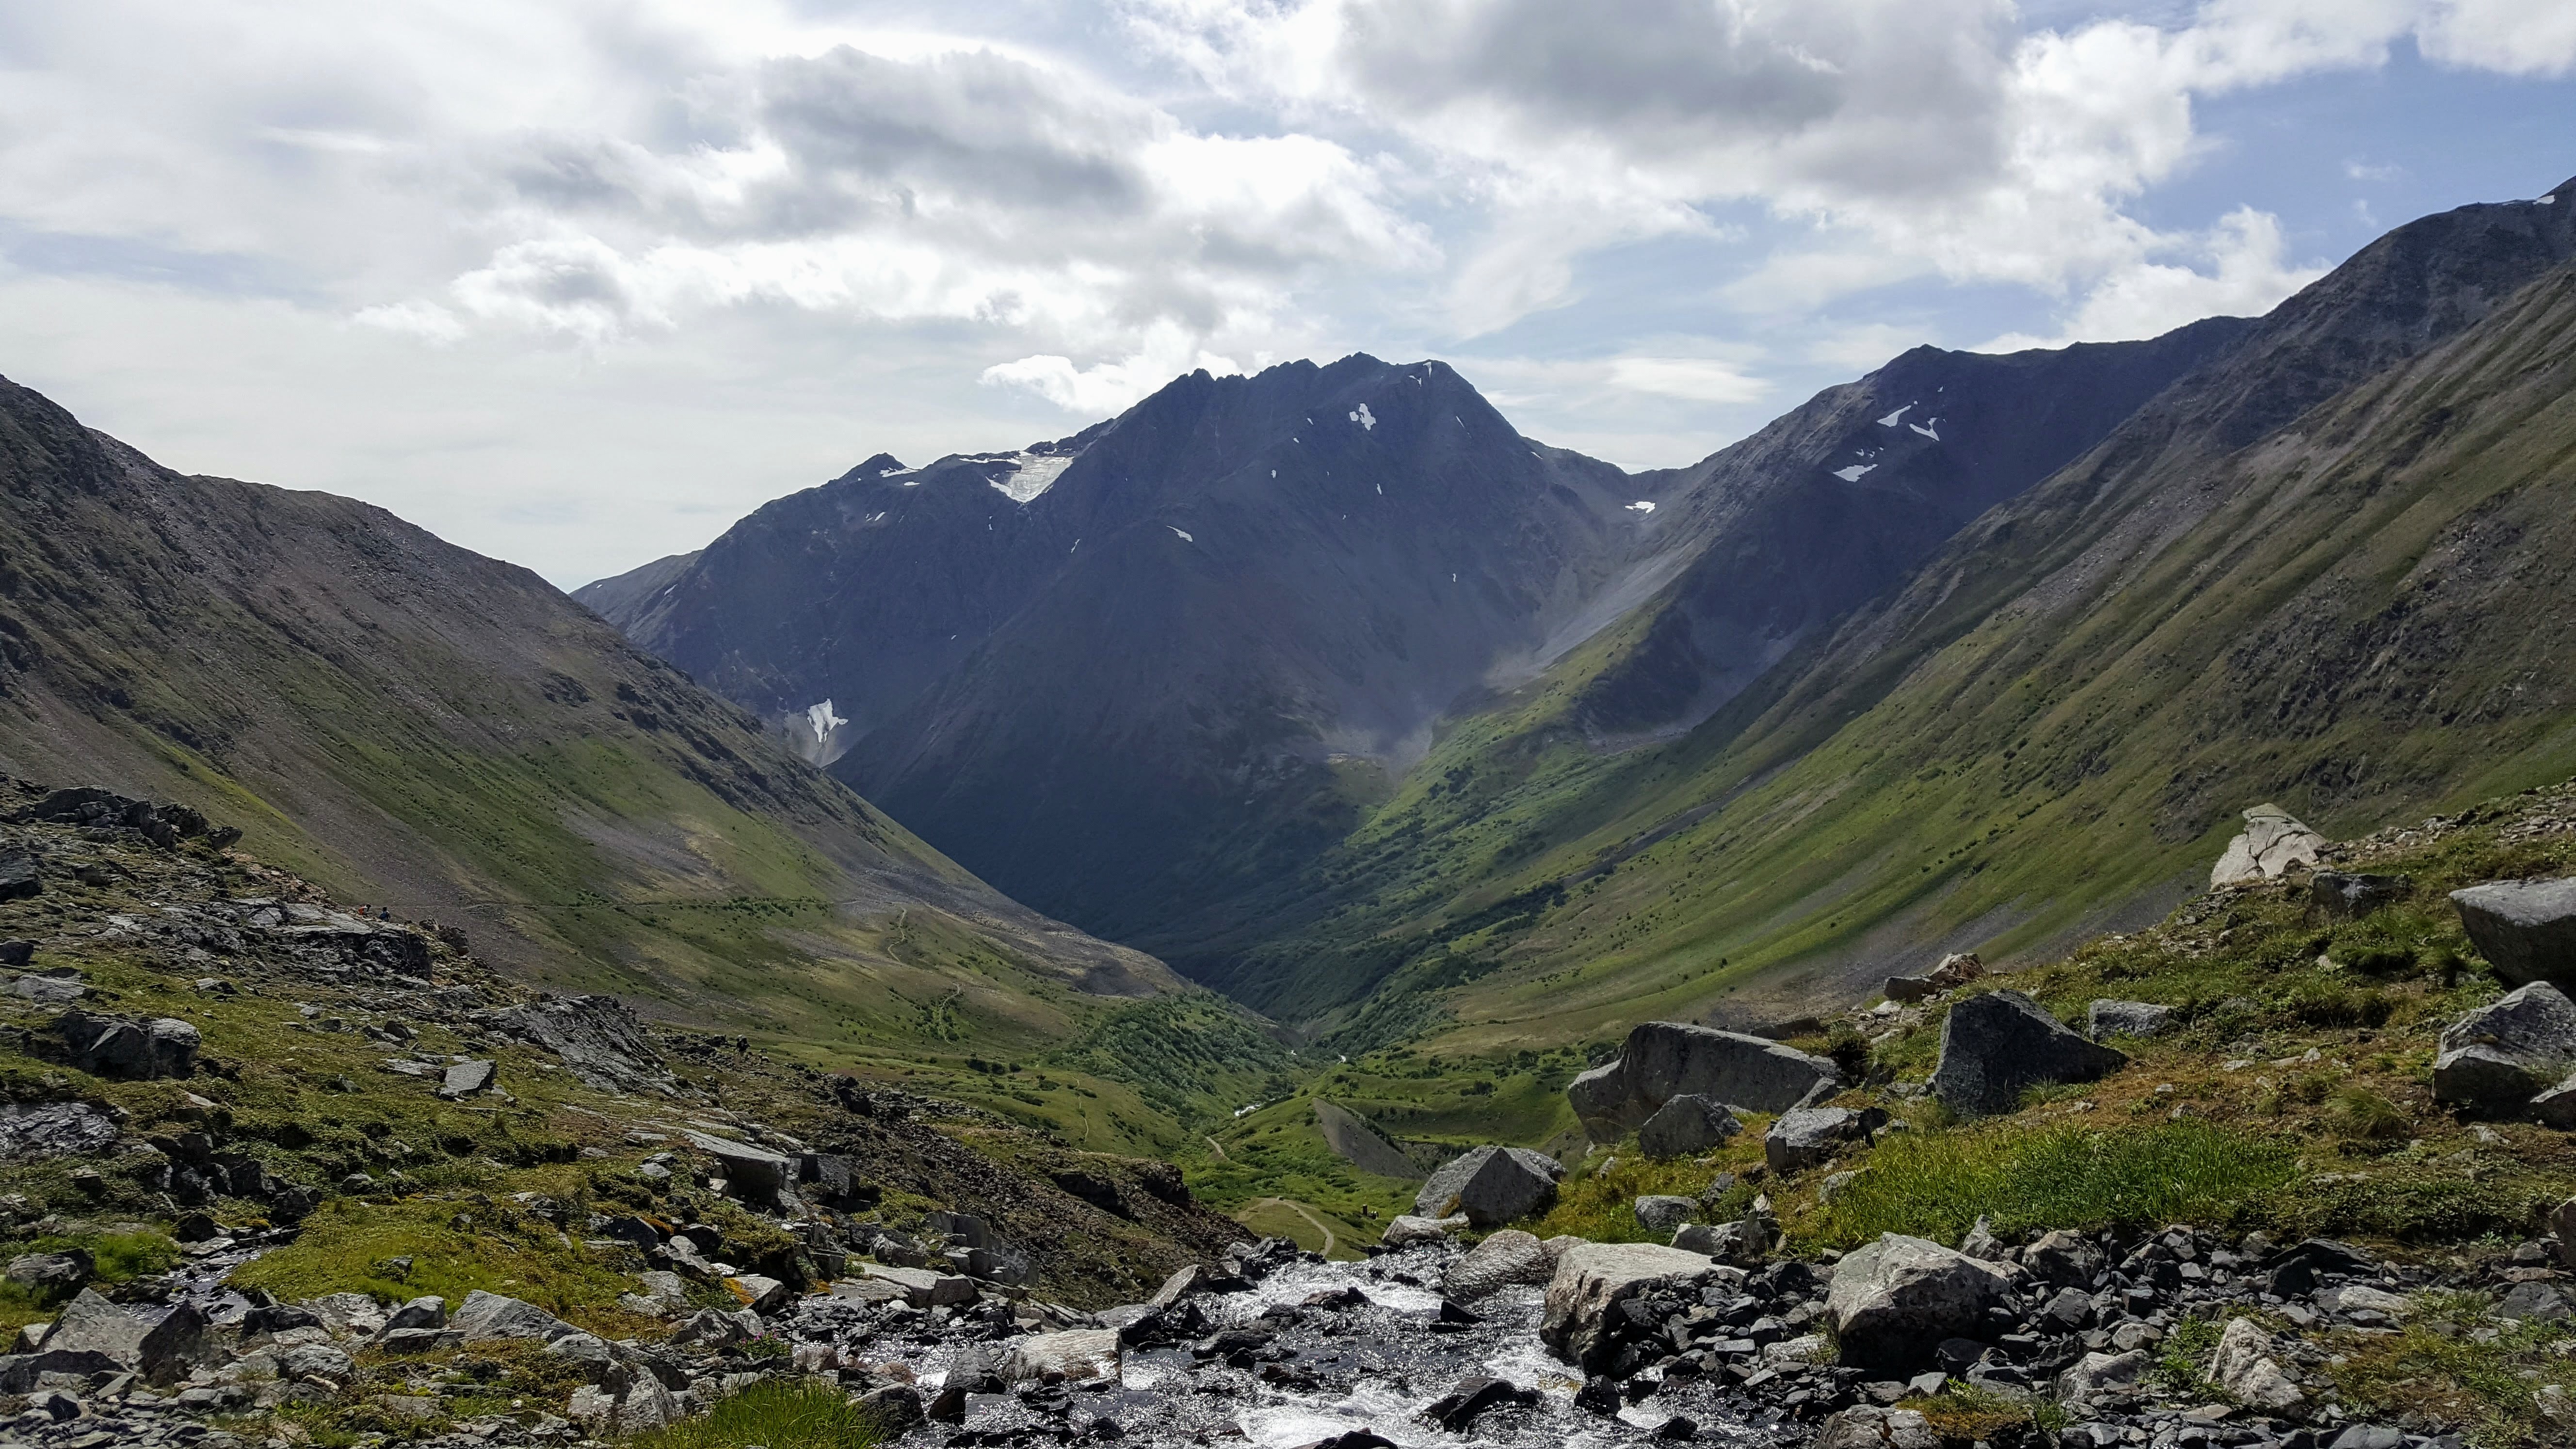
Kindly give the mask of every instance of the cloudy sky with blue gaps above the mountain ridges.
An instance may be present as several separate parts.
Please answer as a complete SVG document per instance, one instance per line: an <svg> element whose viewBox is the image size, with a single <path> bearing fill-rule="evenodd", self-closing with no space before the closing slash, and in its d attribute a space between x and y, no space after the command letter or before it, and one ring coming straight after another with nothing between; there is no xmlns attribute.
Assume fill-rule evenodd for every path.
<svg viewBox="0 0 2576 1449"><path fill-rule="evenodd" d="M2576 173L2576 0L31 0L0 376L574 588L1175 374L1700 459Z"/></svg>

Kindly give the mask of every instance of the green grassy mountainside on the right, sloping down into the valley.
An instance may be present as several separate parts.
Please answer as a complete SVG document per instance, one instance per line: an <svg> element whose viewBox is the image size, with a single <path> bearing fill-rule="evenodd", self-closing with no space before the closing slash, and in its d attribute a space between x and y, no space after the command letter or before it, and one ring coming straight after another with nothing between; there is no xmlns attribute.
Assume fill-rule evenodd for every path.
<svg viewBox="0 0 2576 1449"><path fill-rule="evenodd" d="M2156 910L2257 799L2339 828L2566 773L2553 196L2383 237L1685 740L1569 727L1623 647L1595 639L1453 730L1247 959L1329 982L1273 995L1327 1021L1376 985L1376 1031L1425 993L1466 1039L1762 1016Z"/></svg>

